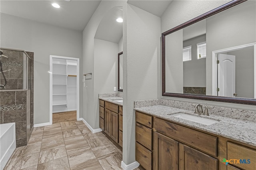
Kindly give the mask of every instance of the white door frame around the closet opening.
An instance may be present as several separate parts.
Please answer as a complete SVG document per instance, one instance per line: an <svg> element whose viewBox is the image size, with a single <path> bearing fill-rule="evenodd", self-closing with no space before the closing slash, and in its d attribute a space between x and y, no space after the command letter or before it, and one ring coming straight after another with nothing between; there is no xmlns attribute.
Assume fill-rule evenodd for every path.
<svg viewBox="0 0 256 170"><path fill-rule="evenodd" d="M74 60L76 61L77 65L76 65L76 72L77 72L77 76L76 76L76 120L80 120L80 116L79 116L79 108L80 108L80 96L79 96L79 77L80 77L80 59L78 58L73 58L73 57L63 57L63 56L56 56L56 55L50 55L50 70L48 71L50 73L50 125L52 125L52 59L56 58L56 59L65 59L65 60Z"/></svg>

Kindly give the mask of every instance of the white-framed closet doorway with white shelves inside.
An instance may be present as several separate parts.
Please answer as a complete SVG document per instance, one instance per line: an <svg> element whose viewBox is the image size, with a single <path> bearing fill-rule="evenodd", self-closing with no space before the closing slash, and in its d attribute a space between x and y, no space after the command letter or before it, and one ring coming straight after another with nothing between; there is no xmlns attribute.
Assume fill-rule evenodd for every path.
<svg viewBox="0 0 256 170"><path fill-rule="evenodd" d="M50 55L50 125L79 119L79 59Z"/></svg>

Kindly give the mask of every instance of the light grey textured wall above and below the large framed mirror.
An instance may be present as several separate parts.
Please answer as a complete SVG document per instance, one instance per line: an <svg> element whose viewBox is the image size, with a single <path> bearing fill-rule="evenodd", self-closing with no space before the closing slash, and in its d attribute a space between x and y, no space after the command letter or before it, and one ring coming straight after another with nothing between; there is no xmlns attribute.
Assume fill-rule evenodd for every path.
<svg viewBox="0 0 256 170"><path fill-rule="evenodd" d="M198 0L198 1L197 0L172 1L161 17L161 32L172 29L188 20L196 18L197 16L200 16L201 14L204 14L204 13L206 13L210 10L213 10L223 4L226 4L227 2L229 2L229 1L221 1L221 0L216 0L216 1L200 1L200 0ZM246 2L244 2L244 3L246 3ZM206 40L207 40L207 37L206 37ZM207 64L207 61L206 61L206 64ZM206 68L206 69L208 69L208 68ZM158 74L158 76L161 76L161 74ZM207 78L207 76L208 76L208 74L206 74L206 78ZM211 78L211 76L210 76L210 78ZM184 101L184 102L194 102L194 103L208 104L208 105L213 105L213 106L232 107L232 108L256 111L256 107L251 106L251 105L166 97L166 96L161 95L161 93L162 93L161 88L159 88L158 93L160 94L161 98L164 98L164 99L171 99L171 100Z"/></svg>

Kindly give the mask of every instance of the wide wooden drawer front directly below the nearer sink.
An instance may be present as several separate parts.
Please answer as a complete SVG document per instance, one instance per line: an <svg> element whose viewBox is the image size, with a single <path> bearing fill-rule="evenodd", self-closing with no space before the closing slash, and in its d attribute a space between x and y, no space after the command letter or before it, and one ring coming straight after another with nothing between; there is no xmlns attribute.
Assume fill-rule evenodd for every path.
<svg viewBox="0 0 256 170"><path fill-rule="evenodd" d="M176 125L174 123L170 123L158 118L155 118L154 126L156 131L162 133L163 135L177 139L182 143L187 143L188 145L196 147L200 150L204 150L204 152L214 156L218 156L217 137L189 129L187 127Z"/></svg>

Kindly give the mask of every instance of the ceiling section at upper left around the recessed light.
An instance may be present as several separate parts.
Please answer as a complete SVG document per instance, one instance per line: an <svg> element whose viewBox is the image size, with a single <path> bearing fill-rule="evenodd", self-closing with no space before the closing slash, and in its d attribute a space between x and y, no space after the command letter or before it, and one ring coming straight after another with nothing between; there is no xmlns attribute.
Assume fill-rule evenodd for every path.
<svg viewBox="0 0 256 170"><path fill-rule="evenodd" d="M0 0L0 12L82 31L99 4L100 0Z"/></svg>

